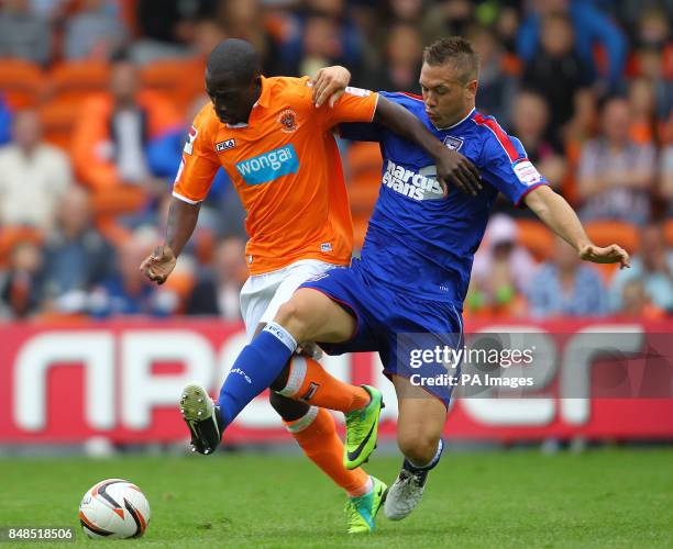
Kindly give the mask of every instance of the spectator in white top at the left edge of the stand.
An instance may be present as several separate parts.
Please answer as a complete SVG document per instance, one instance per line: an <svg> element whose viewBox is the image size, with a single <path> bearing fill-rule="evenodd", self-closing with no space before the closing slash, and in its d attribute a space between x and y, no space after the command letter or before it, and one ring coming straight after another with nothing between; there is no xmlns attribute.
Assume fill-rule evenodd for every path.
<svg viewBox="0 0 673 549"><path fill-rule="evenodd" d="M0 223L48 231L58 200L73 186L68 157L42 141L33 110L19 111L11 144L0 148Z"/></svg>

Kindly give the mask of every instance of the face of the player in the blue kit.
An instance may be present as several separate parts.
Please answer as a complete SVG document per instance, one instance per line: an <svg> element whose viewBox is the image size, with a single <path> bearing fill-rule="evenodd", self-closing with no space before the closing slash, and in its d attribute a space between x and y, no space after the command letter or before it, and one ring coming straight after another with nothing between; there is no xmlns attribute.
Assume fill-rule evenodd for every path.
<svg viewBox="0 0 673 549"><path fill-rule="evenodd" d="M449 127L464 119L474 108L476 80L465 82L461 75L445 63L423 63L419 83L423 93L426 112L435 127Z"/></svg>

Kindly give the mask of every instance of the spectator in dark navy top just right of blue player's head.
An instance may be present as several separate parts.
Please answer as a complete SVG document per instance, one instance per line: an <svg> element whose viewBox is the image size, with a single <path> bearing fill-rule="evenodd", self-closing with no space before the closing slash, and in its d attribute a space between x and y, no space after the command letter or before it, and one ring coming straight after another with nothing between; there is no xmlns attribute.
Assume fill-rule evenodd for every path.
<svg viewBox="0 0 673 549"><path fill-rule="evenodd" d="M503 69L503 51L493 31L478 26L470 32L470 41L479 56L479 93L477 109L508 125L517 81Z"/></svg>

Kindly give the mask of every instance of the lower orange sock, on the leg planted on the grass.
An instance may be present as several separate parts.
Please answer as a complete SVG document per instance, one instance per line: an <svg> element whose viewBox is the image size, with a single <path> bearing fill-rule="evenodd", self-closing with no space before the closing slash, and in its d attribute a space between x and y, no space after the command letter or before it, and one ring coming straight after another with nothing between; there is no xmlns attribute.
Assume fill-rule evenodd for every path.
<svg viewBox="0 0 673 549"><path fill-rule="evenodd" d="M349 471L343 467L343 444L336 434L334 418L327 410L311 406L304 417L285 425L304 453L350 497L364 495L372 489L369 475L361 468Z"/></svg>

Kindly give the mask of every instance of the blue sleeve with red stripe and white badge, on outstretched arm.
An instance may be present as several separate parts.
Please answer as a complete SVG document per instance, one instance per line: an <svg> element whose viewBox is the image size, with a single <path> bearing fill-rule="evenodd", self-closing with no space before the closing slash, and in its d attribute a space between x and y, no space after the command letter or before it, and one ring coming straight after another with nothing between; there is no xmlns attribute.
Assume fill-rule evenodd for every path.
<svg viewBox="0 0 673 549"><path fill-rule="evenodd" d="M499 126L490 130L482 155L484 179L516 205L537 187L549 184L528 159L519 139L510 137Z"/></svg>

